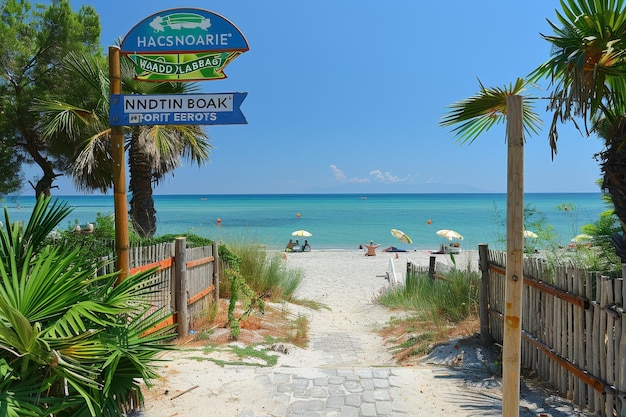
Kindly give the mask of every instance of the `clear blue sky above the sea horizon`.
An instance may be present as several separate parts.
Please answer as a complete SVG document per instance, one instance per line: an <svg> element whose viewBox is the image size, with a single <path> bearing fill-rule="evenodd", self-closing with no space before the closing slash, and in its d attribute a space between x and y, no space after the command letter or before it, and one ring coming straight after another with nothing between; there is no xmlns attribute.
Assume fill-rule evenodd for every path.
<svg viewBox="0 0 626 417"><path fill-rule="evenodd" d="M85 2L87 3L87 2ZM505 126L471 145L439 127L446 106L526 76L549 57L557 0L92 0L106 50L158 11L221 14L250 50L205 92L247 92L247 125L209 126L211 161L186 164L156 194L506 192ZM81 2L72 5L78 8ZM545 96L544 91L533 91ZM527 138L526 192L596 192L595 138L560 128ZM76 194L68 180L57 195ZM28 190L26 190L28 191Z"/></svg>

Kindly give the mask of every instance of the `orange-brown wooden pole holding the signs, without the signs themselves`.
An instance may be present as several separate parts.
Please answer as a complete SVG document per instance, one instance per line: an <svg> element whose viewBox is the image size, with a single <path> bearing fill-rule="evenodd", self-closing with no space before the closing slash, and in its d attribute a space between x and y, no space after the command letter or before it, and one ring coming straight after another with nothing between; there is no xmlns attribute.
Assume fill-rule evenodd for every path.
<svg viewBox="0 0 626 417"><path fill-rule="evenodd" d="M122 93L120 77L120 48L109 46L109 91ZM124 161L124 127L111 126L111 155L113 158L113 205L115 210L115 269L117 283L128 277L128 203L126 201L126 162Z"/></svg>

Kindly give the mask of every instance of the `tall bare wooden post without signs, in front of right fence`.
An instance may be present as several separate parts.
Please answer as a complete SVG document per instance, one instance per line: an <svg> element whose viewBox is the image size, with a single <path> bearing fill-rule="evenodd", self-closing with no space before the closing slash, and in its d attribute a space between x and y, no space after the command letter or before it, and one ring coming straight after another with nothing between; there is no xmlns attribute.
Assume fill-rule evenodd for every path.
<svg viewBox="0 0 626 417"><path fill-rule="evenodd" d="M519 416L524 286L524 130L522 97L509 96L507 108L506 281L502 349L502 415Z"/></svg>

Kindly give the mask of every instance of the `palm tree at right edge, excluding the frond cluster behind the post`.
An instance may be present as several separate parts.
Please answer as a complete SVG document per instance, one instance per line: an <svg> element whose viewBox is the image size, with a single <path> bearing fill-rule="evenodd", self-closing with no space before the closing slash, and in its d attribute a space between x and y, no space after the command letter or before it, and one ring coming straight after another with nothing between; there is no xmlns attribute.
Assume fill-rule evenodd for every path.
<svg viewBox="0 0 626 417"><path fill-rule="evenodd" d="M626 9L623 0L561 1L559 24L548 21L554 35L542 35L552 44L549 60L532 74L547 78L553 112L549 142L557 152L558 123L577 119L584 132L597 132L605 149L596 158L603 172L602 188L615 206L626 230ZM590 123L590 124L589 124ZM583 130L583 129L581 129ZM624 256L622 256L624 259Z"/></svg>

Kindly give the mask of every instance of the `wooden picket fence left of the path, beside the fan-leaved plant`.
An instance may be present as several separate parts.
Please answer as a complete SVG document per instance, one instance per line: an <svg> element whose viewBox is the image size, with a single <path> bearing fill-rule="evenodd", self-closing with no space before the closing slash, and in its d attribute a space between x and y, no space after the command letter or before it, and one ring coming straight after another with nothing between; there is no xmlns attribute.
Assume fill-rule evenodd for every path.
<svg viewBox="0 0 626 417"><path fill-rule="evenodd" d="M217 244L187 248L184 237L172 243L133 247L129 251L130 273L158 268L160 287L150 302L172 318L163 326L177 324L179 336L189 333L190 321L206 311L211 299L219 301Z"/></svg>

